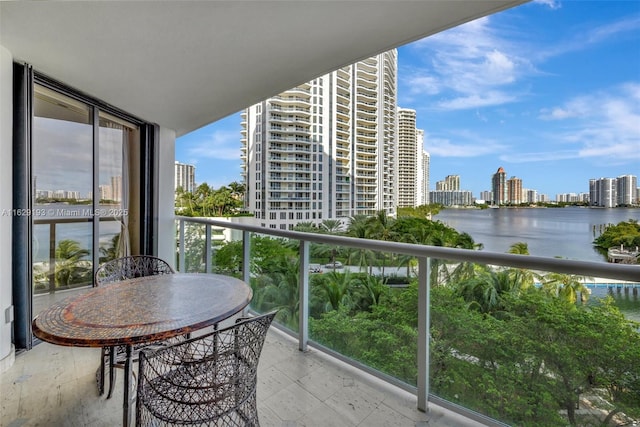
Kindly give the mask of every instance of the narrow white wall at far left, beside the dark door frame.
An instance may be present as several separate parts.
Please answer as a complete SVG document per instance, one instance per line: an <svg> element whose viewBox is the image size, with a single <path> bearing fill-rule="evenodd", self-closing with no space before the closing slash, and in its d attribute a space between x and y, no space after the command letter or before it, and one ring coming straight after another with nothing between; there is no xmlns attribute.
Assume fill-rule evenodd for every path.
<svg viewBox="0 0 640 427"><path fill-rule="evenodd" d="M13 205L13 63L11 53L0 46L0 372L14 361L11 322L11 209Z"/></svg>

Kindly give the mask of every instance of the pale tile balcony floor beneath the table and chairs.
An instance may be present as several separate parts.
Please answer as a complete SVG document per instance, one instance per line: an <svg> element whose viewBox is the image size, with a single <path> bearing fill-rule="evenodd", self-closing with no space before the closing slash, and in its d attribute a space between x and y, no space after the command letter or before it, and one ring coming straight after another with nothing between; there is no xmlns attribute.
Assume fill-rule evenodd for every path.
<svg viewBox="0 0 640 427"><path fill-rule="evenodd" d="M118 426L119 387L107 400L97 395L100 350L48 343L16 356L0 374L0 426ZM258 409L263 427L476 426L467 418L430 404L416 409L415 397L297 343L269 332L258 373Z"/></svg>

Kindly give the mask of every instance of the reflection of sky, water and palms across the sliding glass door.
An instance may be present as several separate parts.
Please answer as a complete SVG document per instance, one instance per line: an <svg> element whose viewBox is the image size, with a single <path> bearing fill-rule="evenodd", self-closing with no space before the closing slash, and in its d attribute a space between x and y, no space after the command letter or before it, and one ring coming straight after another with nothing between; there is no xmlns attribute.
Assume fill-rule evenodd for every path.
<svg viewBox="0 0 640 427"><path fill-rule="evenodd" d="M93 283L128 248L127 153L135 125L41 85L32 127L33 316Z"/></svg>

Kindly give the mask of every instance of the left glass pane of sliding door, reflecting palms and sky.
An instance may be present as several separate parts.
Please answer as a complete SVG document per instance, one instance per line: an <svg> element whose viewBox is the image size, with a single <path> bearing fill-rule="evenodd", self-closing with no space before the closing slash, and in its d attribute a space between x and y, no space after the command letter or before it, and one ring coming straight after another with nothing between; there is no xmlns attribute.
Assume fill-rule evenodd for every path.
<svg viewBox="0 0 640 427"><path fill-rule="evenodd" d="M69 291L92 283L92 117L91 106L35 86L31 146L34 316Z"/></svg>

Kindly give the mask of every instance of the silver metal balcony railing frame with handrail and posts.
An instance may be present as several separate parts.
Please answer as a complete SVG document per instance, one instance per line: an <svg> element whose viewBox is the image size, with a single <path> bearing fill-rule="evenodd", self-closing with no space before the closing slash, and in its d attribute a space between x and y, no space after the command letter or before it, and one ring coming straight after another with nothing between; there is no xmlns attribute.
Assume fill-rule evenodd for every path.
<svg viewBox="0 0 640 427"><path fill-rule="evenodd" d="M609 263L597 263L589 261L574 261L561 258L540 257L532 255L515 255L496 252L484 252L479 250L447 248L441 246L428 246L412 243L385 242L381 240L360 239L354 237L335 236L326 234L315 234L299 231L278 230L265 228L249 224L232 223L230 221L176 216L179 222L179 259L180 271L184 271L185 248L184 233L185 222L202 224L206 227L206 235L210 236L211 227L230 228L242 231L243 257L242 257L242 279L245 282L250 280L249 260L251 233L276 236L286 239L300 241L299 248L299 322L298 322L298 348L306 351L309 341L309 248L310 243L324 243L329 245L339 245L359 249L368 249L383 252L392 252L415 256L418 260L418 343L417 343L417 364L418 378L417 387L410 386L389 375L376 371L357 361L351 360L342 354L328 349L322 345L314 343L318 349L325 351L332 356L356 366L384 381L394 384L402 389L414 392L417 397L417 408L421 411L428 411L428 402L435 402L453 412L459 413L469 419L478 421L484 425L505 426L504 423L489 418L471 409L461 407L455 403L448 402L429 392L429 365L430 365L430 271L431 259L438 258L449 261L473 262L489 264L494 266L504 266L522 268L538 271L553 271L566 274L578 274L580 276L594 276L598 278L609 278L616 280L640 282L640 266L621 265ZM206 271L211 271L210 238L206 241Z"/></svg>

